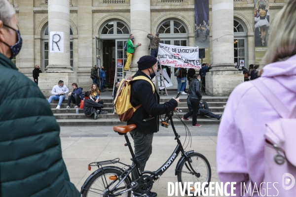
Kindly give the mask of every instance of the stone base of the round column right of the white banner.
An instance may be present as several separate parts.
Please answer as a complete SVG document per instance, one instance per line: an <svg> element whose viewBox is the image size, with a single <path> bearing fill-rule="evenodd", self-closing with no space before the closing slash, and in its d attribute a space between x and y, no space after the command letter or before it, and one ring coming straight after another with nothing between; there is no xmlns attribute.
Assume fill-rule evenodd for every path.
<svg viewBox="0 0 296 197"><path fill-rule="evenodd" d="M243 71L212 70L206 75L206 89L213 93L214 97L229 96L237 85L244 82Z"/></svg>

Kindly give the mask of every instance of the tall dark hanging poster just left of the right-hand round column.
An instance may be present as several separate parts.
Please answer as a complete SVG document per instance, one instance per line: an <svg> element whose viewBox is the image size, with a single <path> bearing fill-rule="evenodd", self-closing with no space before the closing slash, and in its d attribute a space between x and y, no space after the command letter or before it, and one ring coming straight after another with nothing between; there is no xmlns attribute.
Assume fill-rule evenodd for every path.
<svg viewBox="0 0 296 197"><path fill-rule="evenodd" d="M205 49L203 63L210 63L210 14L209 0L194 0L195 46ZM201 60L200 60L201 61Z"/></svg>

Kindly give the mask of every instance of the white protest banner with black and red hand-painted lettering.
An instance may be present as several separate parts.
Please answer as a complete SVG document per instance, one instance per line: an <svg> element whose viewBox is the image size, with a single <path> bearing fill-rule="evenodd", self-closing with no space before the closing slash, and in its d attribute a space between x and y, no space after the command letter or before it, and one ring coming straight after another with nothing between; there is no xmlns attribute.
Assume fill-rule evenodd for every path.
<svg viewBox="0 0 296 197"><path fill-rule="evenodd" d="M158 58L161 65L201 68L198 47L176 46L159 43Z"/></svg>

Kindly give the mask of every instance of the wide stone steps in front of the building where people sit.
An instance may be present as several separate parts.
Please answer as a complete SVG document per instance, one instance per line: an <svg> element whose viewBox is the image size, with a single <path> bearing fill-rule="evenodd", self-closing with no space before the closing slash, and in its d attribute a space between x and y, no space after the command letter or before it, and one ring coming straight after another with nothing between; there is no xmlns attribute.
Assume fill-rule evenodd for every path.
<svg viewBox="0 0 296 197"><path fill-rule="evenodd" d="M173 91L172 91L173 92ZM170 96L161 96L160 103L169 101L172 97L176 97L177 94L170 93ZM58 101L52 100L50 106L54 113L54 116L60 126L116 126L116 125L126 125L126 122L120 122L116 114L113 115L113 99L110 93L103 93L101 99L104 100L103 111L108 111L108 114L99 115L97 120L94 120L93 116L87 117L83 113L83 109L79 109L79 113L76 114L76 109L74 109L75 104L71 103L70 109L66 109L68 97L62 102L61 109L55 109ZM209 97L204 96L201 101L206 101L209 105L210 110L217 115L223 113L224 106L226 105L227 97ZM188 112L187 108L187 96L180 96L180 104L178 106L179 115L182 117ZM162 116L163 118L164 116ZM176 115L175 115L176 117ZM213 118L208 118L204 115L197 116L197 123L200 125L219 125L220 121ZM183 125L178 119L174 119L175 125ZM189 117L189 121L185 121L187 126L191 126L192 117Z"/></svg>

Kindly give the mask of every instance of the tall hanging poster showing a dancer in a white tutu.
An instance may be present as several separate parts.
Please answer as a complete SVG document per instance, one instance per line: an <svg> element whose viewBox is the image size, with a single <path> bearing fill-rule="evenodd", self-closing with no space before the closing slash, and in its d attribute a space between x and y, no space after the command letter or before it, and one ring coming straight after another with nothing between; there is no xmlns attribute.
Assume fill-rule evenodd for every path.
<svg viewBox="0 0 296 197"><path fill-rule="evenodd" d="M269 0L254 0L255 10L255 64L264 65L262 58L267 51L269 35Z"/></svg>

